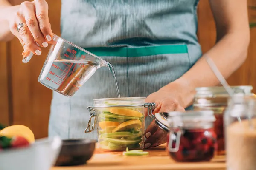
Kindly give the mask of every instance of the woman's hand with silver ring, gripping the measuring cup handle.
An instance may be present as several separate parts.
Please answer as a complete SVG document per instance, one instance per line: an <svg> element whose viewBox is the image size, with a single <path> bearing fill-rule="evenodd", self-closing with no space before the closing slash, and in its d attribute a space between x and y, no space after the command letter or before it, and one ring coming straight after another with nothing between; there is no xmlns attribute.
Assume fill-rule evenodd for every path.
<svg viewBox="0 0 256 170"><path fill-rule="evenodd" d="M27 26L17 31L20 23L25 23ZM40 47L47 47L52 40L48 4L45 0L21 3L16 14L9 20L9 25L12 34L20 40L24 48L23 57L29 56L30 51L35 55L41 55Z"/></svg>

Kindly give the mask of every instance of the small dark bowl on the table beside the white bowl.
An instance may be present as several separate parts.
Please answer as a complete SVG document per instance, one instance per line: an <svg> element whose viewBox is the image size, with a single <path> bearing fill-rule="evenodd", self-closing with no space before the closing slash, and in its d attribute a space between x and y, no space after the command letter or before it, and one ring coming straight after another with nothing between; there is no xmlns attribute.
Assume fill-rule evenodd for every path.
<svg viewBox="0 0 256 170"><path fill-rule="evenodd" d="M55 166L76 166L86 164L93 156L96 141L90 139L65 139Z"/></svg>

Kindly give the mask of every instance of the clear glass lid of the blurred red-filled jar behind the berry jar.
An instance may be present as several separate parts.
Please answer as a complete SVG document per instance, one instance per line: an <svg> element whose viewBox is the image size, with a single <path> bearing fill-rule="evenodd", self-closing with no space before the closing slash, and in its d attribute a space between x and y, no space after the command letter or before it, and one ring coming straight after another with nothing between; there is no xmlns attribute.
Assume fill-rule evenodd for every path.
<svg viewBox="0 0 256 170"><path fill-rule="evenodd" d="M234 93L239 96L250 95L252 94L253 86L244 85L244 86L230 86L233 89ZM223 86L215 86L215 87L200 87L195 88L196 94L195 96L229 96L227 91Z"/></svg>

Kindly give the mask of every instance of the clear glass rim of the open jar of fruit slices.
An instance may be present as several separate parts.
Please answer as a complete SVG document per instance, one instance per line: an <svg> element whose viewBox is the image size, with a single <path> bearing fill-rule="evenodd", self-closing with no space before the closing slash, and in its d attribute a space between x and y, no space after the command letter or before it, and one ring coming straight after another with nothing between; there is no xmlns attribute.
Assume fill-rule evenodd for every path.
<svg viewBox="0 0 256 170"><path fill-rule="evenodd" d="M94 107L117 107L117 106L143 106L145 97L125 97L125 98L102 98L93 99Z"/></svg>

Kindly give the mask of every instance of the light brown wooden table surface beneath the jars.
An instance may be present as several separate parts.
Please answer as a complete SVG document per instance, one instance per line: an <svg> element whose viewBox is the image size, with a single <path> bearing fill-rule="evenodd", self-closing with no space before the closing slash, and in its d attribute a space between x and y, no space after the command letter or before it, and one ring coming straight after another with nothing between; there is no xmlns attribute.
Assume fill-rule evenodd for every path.
<svg viewBox="0 0 256 170"><path fill-rule="evenodd" d="M209 162L177 163L170 158L164 146L148 151L148 156L123 156L122 152L96 148L85 165L52 167L51 170L226 170L225 156L216 156Z"/></svg>

